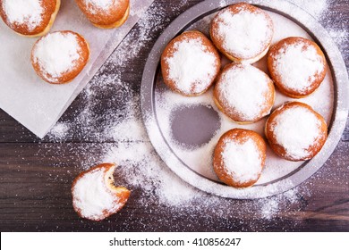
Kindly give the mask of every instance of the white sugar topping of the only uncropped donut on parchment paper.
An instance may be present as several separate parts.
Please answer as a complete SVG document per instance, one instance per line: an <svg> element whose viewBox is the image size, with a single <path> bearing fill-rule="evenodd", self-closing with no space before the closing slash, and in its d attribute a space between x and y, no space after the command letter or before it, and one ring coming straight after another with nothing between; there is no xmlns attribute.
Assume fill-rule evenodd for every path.
<svg viewBox="0 0 349 250"><path fill-rule="evenodd" d="M34 46L33 59L46 79L58 80L65 72L74 68L81 56L77 38L70 32L54 32L38 40Z"/></svg>

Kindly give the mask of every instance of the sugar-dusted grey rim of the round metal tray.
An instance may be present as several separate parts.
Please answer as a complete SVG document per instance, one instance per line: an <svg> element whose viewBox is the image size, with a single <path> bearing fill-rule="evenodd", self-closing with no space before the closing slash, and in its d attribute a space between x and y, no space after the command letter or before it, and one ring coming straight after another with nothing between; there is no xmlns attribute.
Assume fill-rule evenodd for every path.
<svg viewBox="0 0 349 250"><path fill-rule="evenodd" d="M349 96L349 82L345 63L335 43L331 37L329 37L327 31L322 28L308 12L304 12L300 7L287 1L249 1L249 4L254 4L270 12L276 12L297 23L302 29L305 29L309 33L311 38L318 43L325 53L328 66L332 73L335 91L333 114L328 126L328 140L325 146L323 146L320 154L316 155L310 161L304 162L295 171L292 171L281 179L253 187L228 187L225 184L208 179L196 171L192 171L192 169L174 153L173 148L166 141L163 131L159 126L158 119L161 119L161 117L157 117L155 86L157 74L160 70L160 56L168 42L182 33L183 30L190 27L192 23L225 8L227 5L236 4L238 2L240 1L226 0L222 2L208 0L201 2L186 12L183 12L165 29L163 34L158 37L145 65L141 81L140 103L143 121L152 145L157 150L157 154L166 162L167 166L181 179L200 190L216 196L236 199L254 199L277 195L298 186L304 180L310 178L311 175L318 171L328 160L328 157L335 150L345 129L349 107L349 101L347 99L347 96ZM321 100L319 100L319 102L320 101Z"/></svg>

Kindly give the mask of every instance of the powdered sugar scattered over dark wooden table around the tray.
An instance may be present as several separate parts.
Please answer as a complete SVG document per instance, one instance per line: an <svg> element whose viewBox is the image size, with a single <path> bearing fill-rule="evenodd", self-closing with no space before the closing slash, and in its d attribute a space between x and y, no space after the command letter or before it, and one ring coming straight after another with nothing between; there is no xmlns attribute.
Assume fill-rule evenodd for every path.
<svg viewBox="0 0 349 250"><path fill-rule="evenodd" d="M314 1L292 2L301 4L310 12L313 10L311 14L318 20L327 14L327 1L316 1L315 5ZM181 4L187 3L182 1ZM175 15L180 12L181 5L174 7ZM167 14L159 4L150 6L136 27L83 90L83 106L73 113L75 118L64 121L63 117L46 138L56 143L66 142L74 137L99 142L88 147L73 144L70 146L70 154L80 154L82 158L81 166L77 168L83 171L98 162L117 162L119 167L115 172L116 184L130 188L135 193L136 204L148 207L150 214L157 214L158 211L151 209L154 207L171 211L171 218L154 217L155 223L151 223L151 229L154 230L161 229L161 224L164 223L171 223L176 230L174 221L183 219L181 215L187 216L188 226L195 224L198 217L204 217L206 221L219 218L223 221L222 229L239 226L241 230L268 230L269 221L277 218L279 221L287 220L288 217L302 212L302 208L306 206L304 200L311 196L311 191L302 185L284 194L264 199L226 199L211 196L184 183L159 158L149 142L141 120L141 72L137 72L137 80L130 83L123 81L123 71L132 71L128 69L128 62L149 52L152 41L169 24ZM342 51L347 51L349 43L344 26L330 29L329 34ZM137 227L143 223L144 229L150 227L147 221L132 220L131 214L124 222L125 230L132 229L135 223L138 223ZM273 223L277 221L274 220ZM292 223L294 225L291 228L297 222Z"/></svg>

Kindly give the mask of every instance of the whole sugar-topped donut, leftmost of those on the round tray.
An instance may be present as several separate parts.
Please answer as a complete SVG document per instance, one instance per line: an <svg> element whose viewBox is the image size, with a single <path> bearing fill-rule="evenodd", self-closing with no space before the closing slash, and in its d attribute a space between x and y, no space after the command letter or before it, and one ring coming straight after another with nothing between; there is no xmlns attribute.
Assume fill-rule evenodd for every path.
<svg viewBox="0 0 349 250"><path fill-rule="evenodd" d="M164 82L183 96L199 96L207 91L219 69L217 49L196 30L175 37L161 55Z"/></svg>

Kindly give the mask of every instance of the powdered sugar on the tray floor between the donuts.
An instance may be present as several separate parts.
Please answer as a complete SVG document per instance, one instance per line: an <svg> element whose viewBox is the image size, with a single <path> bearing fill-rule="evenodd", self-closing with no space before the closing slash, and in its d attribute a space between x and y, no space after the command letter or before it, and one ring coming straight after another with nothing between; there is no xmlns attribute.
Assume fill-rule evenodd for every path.
<svg viewBox="0 0 349 250"><path fill-rule="evenodd" d="M289 21L285 19L285 17L278 15L277 13L268 12L272 17L276 30L280 30L281 34L277 33L276 37L278 39L282 39L285 37L294 36L294 37L305 37L309 36L307 33L296 25L293 21ZM211 15L211 18L213 18ZM190 29L199 29L200 31L206 30L205 24L209 24L209 21L205 20L204 23L202 21L198 22L198 27L193 25ZM285 29L285 27L291 27L291 29ZM289 33L287 33L287 30ZM267 71L266 67L263 67L262 63L266 64L266 61L260 61L255 65L260 68L262 71ZM328 72L330 70L328 69ZM243 128L243 129L251 129L254 130L260 135L264 135L264 125L266 119L261 119L258 122L248 125L240 125L232 122L230 119L226 117L226 115L220 112L216 105L213 102L212 91L209 90L202 96L196 96L192 98L187 98L184 96L176 95L171 91L166 91L164 89L164 83L161 79L157 80L156 87L156 105L157 105L157 117L161 117L158 119L159 127L161 128L163 136L166 138L166 142L168 142L174 153L183 160L183 162L189 166L193 171L198 172L200 175L205 176L208 179L217 180L217 176L214 172L212 172L212 160L211 155L213 153L213 149L217 144L217 140L219 137L225 133L229 129L233 128ZM331 115L333 110L333 98L334 98L334 89L333 89L333 81L331 78L331 74L327 74L323 83L320 85L318 91L316 91L313 95L307 96L302 99L302 101L306 104L310 104L316 112L319 112L325 120L330 124ZM319 102L319 99L323 100ZM292 98L281 95L277 92L276 103L274 108L277 108L279 105L284 104L287 101L292 101ZM219 118L217 123L219 124L219 129L217 129L216 133L207 141L206 144L201 146L188 146L183 143L179 143L176 138L174 138L174 131L172 130L171 124L174 118L174 113L178 109L191 109L193 106L205 106L208 109L213 110L213 112L217 112ZM204 114L202 114L204 115ZM195 131L187 131L188 134L194 133ZM168 153L172 154L172 153ZM266 166L262 171L260 179L256 183L258 184L267 184L273 182L276 179L283 178L287 174L292 171L296 171L299 166L302 165L302 162L290 162L285 161L279 156L277 156L274 152L267 149L267 159Z"/></svg>

